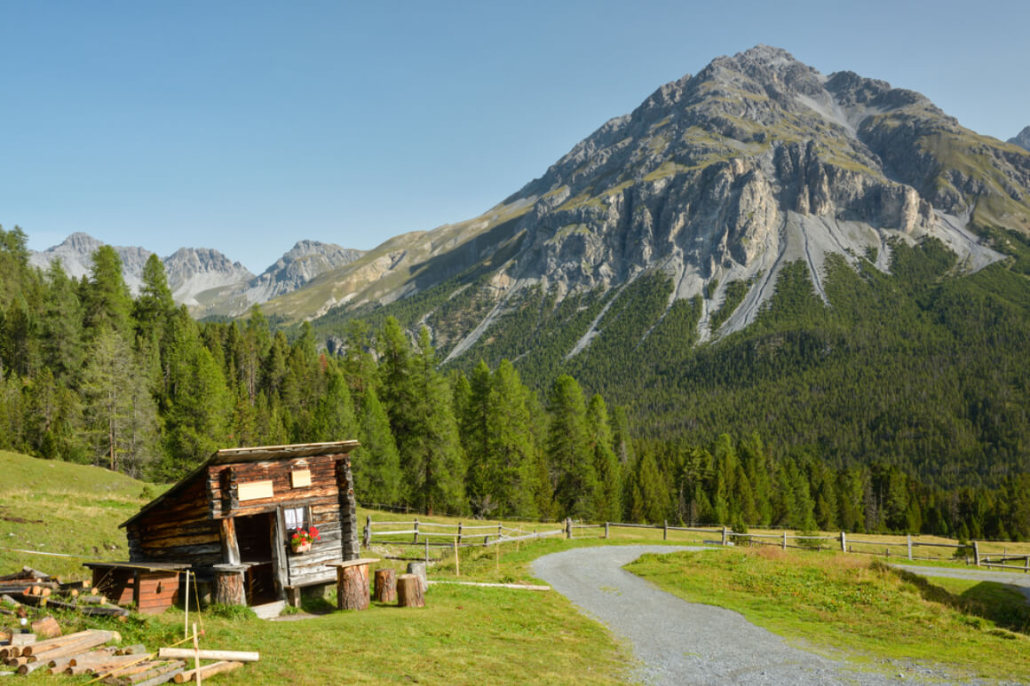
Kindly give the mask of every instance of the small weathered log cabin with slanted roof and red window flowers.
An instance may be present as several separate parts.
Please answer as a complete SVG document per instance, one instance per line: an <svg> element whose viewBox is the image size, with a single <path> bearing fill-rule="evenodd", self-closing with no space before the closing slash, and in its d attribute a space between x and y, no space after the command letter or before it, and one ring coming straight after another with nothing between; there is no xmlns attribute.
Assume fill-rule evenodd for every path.
<svg viewBox="0 0 1030 686"><path fill-rule="evenodd" d="M217 451L122 524L129 538L127 569L184 565L202 582L228 579L236 602L297 605L301 588L336 581L336 570L327 563L358 557L348 456L357 445ZM293 533L312 525L319 540L310 551L294 552Z"/></svg>

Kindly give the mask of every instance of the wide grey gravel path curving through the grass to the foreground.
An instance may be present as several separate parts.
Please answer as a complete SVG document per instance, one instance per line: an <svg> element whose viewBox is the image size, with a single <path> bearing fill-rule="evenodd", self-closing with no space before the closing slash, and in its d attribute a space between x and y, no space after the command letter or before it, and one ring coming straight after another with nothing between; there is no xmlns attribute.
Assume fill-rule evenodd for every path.
<svg viewBox="0 0 1030 686"><path fill-rule="evenodd" d="M534 574L579 608L628 640L645 684L887 684L919 682L863 673L795 648L730 610L687 603L622 570L646 552L696 547L599 546L545 555ZM717 550L711 550L717 555ZM929 676L929 675L928 675ZM947 675L936 674L935 683Z"/></svg>

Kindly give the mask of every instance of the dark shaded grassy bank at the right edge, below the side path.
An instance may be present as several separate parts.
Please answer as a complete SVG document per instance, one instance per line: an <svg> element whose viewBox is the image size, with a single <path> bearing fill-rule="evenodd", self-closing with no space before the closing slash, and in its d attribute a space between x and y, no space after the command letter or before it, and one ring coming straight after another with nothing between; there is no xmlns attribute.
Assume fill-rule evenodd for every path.
<svg viewBox="0 0 1030 686"><path fill-rule="evenodd" d="M886 564L883 567L896 574L902 581L916 586L925 599L946 605L967 615L968 623L976 628L988 628L983 621L986 619L1009 631L1030 636L1030 605L1020 591L1006 584L982 581L964 592L955 594L933 584L926 577ZM999 632L998 636L1004 637L1003 632Z"/></svg>

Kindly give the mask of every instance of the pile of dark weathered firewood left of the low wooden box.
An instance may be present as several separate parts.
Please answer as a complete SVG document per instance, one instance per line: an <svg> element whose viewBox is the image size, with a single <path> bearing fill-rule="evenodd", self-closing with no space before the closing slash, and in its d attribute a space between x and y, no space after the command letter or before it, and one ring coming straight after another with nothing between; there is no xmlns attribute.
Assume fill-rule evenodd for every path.
<svg viewBox="0 0 1030 686"><path fill-rule="evenodd" d="M8 606L71 610L94 617L129 616L128 610L109 604L100 590L92 588L89 582L63 583L59 578L29 567L0 577L0 601Z"/></svg>

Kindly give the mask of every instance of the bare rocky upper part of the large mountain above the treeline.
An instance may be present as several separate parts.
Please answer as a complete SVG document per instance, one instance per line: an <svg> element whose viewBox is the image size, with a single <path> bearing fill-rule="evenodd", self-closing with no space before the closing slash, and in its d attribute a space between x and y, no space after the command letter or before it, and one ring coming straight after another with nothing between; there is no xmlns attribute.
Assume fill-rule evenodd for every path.
<svg viewBox="0 0 1030 686"><path fill-rule="evenodd" d="M753 321L785 265L825 301L828 255L886 271L893 244L935 238L975 271L1002 256L988 228L1030 231L1030 155L918 93L758 45L662 85L482 216L391 239L269 309L336 320L418 295L454 358L533 289L560 303L662 273L668 307L700 298L705 340Z"/></svg>

